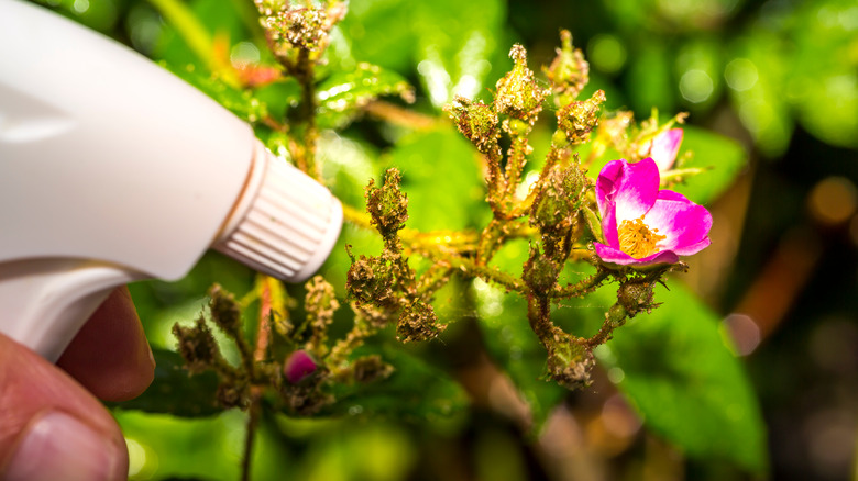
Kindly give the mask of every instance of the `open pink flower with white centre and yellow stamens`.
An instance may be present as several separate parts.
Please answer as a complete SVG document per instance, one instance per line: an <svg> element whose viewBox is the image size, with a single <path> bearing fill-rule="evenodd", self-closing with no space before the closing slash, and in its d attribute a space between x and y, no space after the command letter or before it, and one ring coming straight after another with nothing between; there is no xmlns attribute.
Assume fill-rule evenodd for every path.
<svg viewBox="0 0 858 481"><path fill-rule="evenodd" d="M605 262L674 264L710 245L712 214L681 193L659 190L652 158L612 160L598 174L596 202L607 244L594 243Z"/></svg>

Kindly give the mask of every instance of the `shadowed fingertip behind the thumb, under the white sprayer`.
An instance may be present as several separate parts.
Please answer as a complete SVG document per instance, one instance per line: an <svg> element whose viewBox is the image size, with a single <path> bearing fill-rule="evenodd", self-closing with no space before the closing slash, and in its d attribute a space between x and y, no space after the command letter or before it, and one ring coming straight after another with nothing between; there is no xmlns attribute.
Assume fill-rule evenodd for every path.
<svg viewBox="0 0 858 481"><path fill-rule="evenodd" d="M57 366L105 401L127 401L148 388L155 360L128 288L110 294Z"/></svg>

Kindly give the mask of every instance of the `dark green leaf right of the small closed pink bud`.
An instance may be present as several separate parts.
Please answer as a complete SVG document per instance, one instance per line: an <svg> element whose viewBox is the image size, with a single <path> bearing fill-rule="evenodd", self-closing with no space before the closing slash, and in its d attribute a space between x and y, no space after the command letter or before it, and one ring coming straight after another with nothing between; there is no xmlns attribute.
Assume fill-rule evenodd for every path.
<svg viewBox="0 0 858 481"><path fill-rule="evenodd" d="M381 356L394 367L393 374L366 384L336 385L337 402L323 414L431 423L449 420L469 405L464 389L449 374L402 347L384 347Z"/></svg>

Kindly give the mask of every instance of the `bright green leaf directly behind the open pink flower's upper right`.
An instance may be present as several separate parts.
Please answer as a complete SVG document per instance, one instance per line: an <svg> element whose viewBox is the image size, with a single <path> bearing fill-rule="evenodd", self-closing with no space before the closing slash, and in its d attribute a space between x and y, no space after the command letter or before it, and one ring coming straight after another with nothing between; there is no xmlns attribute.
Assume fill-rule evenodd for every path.
<svg viewBox="0 0 858 481"><path fill-rule="evenodd" d="M683 126L682 152L692 150L694 156L682 165L682 169L702 169L701 174L689 176L670 189L685 194L698 204L710 204L721 195L747 165L748 155L736 141L713 134L702 128Z"/></svg>

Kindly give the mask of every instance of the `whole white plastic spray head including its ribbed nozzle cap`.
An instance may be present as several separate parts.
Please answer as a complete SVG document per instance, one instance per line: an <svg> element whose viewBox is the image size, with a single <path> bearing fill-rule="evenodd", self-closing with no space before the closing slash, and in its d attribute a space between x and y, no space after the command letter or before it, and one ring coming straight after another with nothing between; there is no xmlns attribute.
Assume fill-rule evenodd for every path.
<svg viewBox="0 0 858 481"><path fill-rule="evenodd" d="M130 48L0 0L0 332L55 361L117 286L213 247L312 275L342 206L251 127Z"/></svg>

